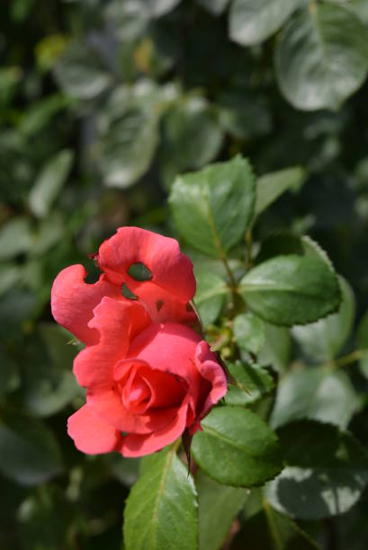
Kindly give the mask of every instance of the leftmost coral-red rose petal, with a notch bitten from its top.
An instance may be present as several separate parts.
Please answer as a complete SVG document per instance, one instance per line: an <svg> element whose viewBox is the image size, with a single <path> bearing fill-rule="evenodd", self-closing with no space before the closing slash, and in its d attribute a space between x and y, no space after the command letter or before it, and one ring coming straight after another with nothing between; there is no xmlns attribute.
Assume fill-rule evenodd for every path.
<svg viewBox="0 0 368 550"><path fill-rule="evenodd" d="M98 332L88 326L94 307L103 296L121 298L121 292L105 275L92 285L85 283L85 276L85 268L79 264L58 273L51 290L51 311L58 324L85 344L93 344L99 340Z"/></svg>

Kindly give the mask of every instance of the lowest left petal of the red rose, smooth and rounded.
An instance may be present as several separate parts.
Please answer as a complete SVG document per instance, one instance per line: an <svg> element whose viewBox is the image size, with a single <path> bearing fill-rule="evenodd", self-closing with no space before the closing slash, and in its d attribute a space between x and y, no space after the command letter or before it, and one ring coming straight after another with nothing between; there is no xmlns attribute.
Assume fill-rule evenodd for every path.
<svg viewBox="0 0 368 550"><path fill-rule="evenodd" d="M76 448L87 455L108 453L121 442L121 433L96 416L86 404L69 416L67 433L74 439Z"/></svg>

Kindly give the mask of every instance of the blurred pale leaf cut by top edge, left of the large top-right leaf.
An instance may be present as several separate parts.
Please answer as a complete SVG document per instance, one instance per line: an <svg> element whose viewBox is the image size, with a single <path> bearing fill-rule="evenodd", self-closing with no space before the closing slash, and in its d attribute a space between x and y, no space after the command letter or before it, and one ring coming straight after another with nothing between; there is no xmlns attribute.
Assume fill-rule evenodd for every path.
<svg viewBox="0 0 368 550"><path fill-rule="evenodd" d="M280 29L301 0L234 0L229 11L230 39L252 46Z"/></svg>

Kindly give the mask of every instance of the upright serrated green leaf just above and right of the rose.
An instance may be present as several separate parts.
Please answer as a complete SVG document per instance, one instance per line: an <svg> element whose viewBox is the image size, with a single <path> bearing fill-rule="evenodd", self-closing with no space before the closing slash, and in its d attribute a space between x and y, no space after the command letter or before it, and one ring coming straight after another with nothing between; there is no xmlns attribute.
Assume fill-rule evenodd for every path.
<svg viewBox="0 0 368 550"><path fill-rule="evenodd" d="M240 156L178 176L169 198L184 239L216 258L223 258L245 234L254 201L255 179Z"/></svg>

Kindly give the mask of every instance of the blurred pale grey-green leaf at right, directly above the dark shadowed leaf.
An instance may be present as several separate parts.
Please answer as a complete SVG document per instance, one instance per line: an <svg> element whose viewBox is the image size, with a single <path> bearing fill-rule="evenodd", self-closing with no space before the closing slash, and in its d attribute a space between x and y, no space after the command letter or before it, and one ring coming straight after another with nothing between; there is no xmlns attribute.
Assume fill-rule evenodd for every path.
<svg viewBox="0 0 368 550"><path fill-rule="evenodd" d="M271 425L277 428L305 418L346 428L357 408L355 389L344 372L304 368L282 378Z"/></svg>

